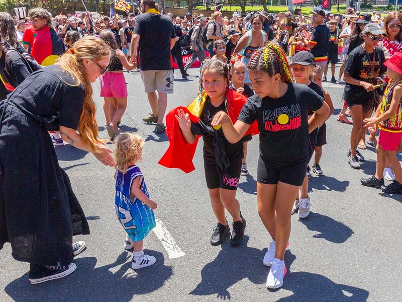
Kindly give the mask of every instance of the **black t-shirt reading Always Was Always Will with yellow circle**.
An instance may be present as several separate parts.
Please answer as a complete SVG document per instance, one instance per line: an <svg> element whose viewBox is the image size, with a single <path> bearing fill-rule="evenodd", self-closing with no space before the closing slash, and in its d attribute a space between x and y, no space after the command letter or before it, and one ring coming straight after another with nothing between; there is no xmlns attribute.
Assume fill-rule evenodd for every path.
<svg viewBox="0 0 402 302"><path fill-rule="evenodd" d="M323 102L323 97L306 85L288 84L278 99L250 97L238 120L249 125L257 120L260 157L265 163L301 163L309 156L307 112L320 109Z"/></svg>

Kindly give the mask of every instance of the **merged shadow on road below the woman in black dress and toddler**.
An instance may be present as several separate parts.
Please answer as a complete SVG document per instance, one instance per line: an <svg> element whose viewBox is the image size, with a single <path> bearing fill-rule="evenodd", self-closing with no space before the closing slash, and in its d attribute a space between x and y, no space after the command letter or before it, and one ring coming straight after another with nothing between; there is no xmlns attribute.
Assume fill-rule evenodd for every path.
<svg viewBox="0 0 402 302"><path fill-rule="evenodd" d="M96 258L74 259L77 269L65 278L29 285L28 273L12 281L5 288L10 297L19 301L131 301L135 295L162 287L172 275L172 267L164 265L161 252L146 251L155 256L154 265L131 269L131 253L122 252L114 263L95 267ZM115 267L122 265L116 272Z"/></svg>

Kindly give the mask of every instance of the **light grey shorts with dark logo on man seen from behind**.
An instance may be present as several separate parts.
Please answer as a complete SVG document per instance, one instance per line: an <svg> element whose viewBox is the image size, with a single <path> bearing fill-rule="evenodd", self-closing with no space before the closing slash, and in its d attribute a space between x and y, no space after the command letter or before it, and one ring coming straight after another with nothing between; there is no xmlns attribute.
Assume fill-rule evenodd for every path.
<svg viewBox="0 0 402 302"><path fill-rule="evenodd" d="M169 70L140 70L145 92L158 91L159 93L172 94L174 76L172 69Z"/></svg>

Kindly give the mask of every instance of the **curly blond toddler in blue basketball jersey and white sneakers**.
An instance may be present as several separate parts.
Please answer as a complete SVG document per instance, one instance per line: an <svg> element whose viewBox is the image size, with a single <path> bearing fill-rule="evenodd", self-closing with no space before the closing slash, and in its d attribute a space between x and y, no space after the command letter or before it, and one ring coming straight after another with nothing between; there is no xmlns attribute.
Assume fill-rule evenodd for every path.
<svg viewBox="0 0 402 302"><path fill-rule="evenodd" d="M155 228L154 209L157 203L149 199L147 186L140 168L144 139L133 133L120 133L115 138L116 161L116 214L126 230L124 248L134 248L131 267L139 269L156 262L155 257L144 254L143 242Z"/></svg>

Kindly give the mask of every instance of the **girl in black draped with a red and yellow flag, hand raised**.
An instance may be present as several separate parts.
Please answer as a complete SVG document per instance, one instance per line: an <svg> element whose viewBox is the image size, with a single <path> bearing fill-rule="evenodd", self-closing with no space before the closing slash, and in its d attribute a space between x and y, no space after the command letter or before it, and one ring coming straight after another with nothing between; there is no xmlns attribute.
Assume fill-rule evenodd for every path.
<svg viewBox="0 0 402 302"><path fill-rule="evenodd" d="M221 127L212 127L211 121L217 112L225 112L233 121L247 99L240 93L229 89L229 65L216 59L204 61L202 82L204 91L185 107L177 107L166 116L170 145L160 160L168 168L180 168L188 173L194 170L191 160L196 142L200 136L204 140L204 168L211 205L218 220L211 236L213 246L220 245L230 234L225 210L233 218L230 243L233 246L243 241L246 219L241 215L240 204L236 199L243 159L241 138L230 143ZM253 132L252 132L253 131ZM249 133L257 133L257 124ZM186 161L187 159L187 161Z"/></svg>

